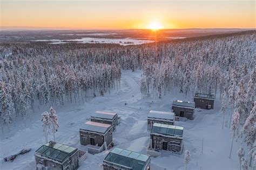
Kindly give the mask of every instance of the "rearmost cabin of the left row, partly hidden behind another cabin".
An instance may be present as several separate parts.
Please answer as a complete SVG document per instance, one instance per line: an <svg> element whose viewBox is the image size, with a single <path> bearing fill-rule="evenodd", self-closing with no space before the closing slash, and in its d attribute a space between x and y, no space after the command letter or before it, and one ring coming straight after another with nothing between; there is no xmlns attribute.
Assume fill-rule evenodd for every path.
<svg viewBox="0 0 256 170"><path fill-rule="evenodd" d="M105 123L112 125L113 130L118 124L118 117L116 112L96 111L91 116L91 122Z"/></svg>

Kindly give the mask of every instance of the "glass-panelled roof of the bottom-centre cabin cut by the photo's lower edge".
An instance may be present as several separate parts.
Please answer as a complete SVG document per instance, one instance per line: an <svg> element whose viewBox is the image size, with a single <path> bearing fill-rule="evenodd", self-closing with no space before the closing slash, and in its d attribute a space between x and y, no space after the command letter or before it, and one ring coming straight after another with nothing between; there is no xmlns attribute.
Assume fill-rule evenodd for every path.
<svg viewBox="0 0 256 170"><path fill-rule="evenodd" d="M150 157L148 155L115 147L107 154L104 162L106 164L109 162L110 164L140 170L146 166L149 160Z"/></svg>

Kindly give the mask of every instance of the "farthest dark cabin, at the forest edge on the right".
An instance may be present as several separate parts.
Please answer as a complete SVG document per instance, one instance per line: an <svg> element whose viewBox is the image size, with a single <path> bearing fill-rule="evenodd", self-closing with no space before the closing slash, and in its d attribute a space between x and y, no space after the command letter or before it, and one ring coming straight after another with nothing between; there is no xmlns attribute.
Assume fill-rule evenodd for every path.
<svg viewBox="0 0 256 170"><path fill-rule="evenodd" d="M213 94L196 93L194 95L194 103L196 108L213 109L215 96Z"/></svg>

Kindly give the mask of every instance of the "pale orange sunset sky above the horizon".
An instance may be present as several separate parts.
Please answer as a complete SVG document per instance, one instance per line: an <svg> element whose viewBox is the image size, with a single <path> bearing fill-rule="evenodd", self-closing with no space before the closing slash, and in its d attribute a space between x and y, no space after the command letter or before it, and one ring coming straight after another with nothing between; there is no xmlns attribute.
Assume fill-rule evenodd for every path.
<svg viewBox="0 0 256 170"><path fill-rule="evenodd" d="M0 0L1 27L58 29L255 28L247 0Z"/></svg>

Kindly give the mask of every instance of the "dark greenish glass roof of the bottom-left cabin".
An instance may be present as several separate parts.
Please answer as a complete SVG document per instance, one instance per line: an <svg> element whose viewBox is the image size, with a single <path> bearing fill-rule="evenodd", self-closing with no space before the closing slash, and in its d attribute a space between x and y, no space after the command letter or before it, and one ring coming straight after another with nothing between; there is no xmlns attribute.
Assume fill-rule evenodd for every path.
<svg viewBox="0 0 256 170"><path fill-rule="evenodd" d="M49 143L46 143L38 148L35 153L63 163L66 159L69 159L70 156L76 151L77 148L75 147L70 147L68 145L56 143L55 141L50 141Z"/></svg>

